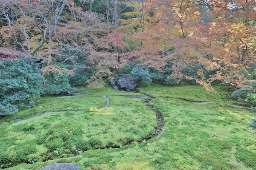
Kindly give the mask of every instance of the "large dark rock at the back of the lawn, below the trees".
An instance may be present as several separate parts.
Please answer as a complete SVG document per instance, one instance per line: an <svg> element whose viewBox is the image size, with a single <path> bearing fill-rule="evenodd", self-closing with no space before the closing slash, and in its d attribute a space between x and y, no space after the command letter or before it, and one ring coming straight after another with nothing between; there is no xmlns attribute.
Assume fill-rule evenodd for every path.
<svg viewBox="0 0 256 170"><path fill-rule="evenodd" d="M133 79L127 75L113 77L109 82L109 85L114 89L119 89L120 91L135 91L139 86L137 79Z"/></svg>

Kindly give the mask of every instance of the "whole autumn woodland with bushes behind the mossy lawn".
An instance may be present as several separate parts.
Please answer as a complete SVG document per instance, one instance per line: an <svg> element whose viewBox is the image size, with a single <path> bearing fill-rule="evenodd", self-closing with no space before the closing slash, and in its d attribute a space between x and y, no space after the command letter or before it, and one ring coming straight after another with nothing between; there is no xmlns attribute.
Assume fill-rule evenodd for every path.
<svg viewBox="0 0 256 170"><path fill-rule="evenodd" d="M1 0L0 11L0 115L120 74L223 84L256 104L254 1Z"/></svg>

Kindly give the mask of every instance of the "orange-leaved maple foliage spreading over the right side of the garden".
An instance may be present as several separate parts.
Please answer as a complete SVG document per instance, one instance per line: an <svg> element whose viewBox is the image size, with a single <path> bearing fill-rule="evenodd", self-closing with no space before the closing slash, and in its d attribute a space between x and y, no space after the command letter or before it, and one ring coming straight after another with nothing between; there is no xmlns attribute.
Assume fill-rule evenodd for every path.
<svg viewBox="0 0 256 170"><path fill-rule="evenodd" d="M155 0L147 10L154 12L151 23L134 35L143 41L144 65L163 72L169 65L171 77L195 79L206 88L217 80L249 88L244 74L250 76L255 64L255 3Z"/></svg>

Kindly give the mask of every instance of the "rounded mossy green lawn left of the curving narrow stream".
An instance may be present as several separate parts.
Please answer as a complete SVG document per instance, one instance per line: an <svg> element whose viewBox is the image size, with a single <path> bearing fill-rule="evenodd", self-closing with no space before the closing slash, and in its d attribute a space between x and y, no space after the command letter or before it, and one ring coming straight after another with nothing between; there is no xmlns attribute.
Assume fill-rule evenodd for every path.
<svg viewBox="0 0 256 170"><path fill-rule="evenodd" d="M77 102L74 102L75 99ZM84 102L82 105L81 100ZM105 99L99 96L46 97L40 102L43 108L38 108L37 105L26 109L32 110L36 115L32 119L23 119L18 123L11 121L27 117L25 109L14 116L4 117L1 122L8 126L0 128L1 164L3 167L12 167L22 163L29 164L29 159L46 161L69 158L86 150L118 147L154 133L157 120L154 111L144 104L145 99L112 96L110 100L108 108L98 110L99 105L105 105ZM56 108L47 107L55 101L59 103ZM140 111L134 113L133 109L137 107ZM63 111L69 108L77 111L39 115L45 111Z"/></svg>

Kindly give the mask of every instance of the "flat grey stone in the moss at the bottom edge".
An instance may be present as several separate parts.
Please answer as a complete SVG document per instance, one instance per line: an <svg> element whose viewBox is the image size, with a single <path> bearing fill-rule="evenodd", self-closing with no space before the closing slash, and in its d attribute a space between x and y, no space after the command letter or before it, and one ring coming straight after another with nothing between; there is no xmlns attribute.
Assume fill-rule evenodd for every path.
<svg viewBox="0 0 256 170"><path fill-rule="evenodd" d="M80 167L71 163L55 163L42 167L40 170L80 170Z"/></svg>

